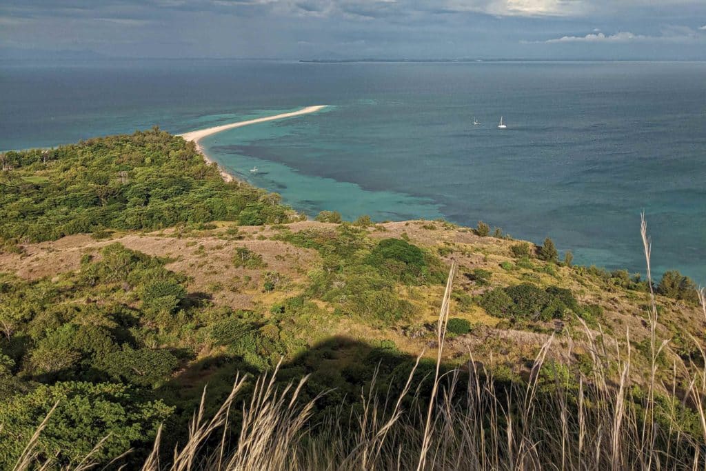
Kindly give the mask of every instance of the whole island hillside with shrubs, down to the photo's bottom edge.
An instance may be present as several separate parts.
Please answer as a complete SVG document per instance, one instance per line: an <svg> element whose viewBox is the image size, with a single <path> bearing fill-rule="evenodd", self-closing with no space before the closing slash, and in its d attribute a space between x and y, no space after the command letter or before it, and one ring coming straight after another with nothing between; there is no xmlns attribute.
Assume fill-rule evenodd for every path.
<svg viewBox="0 0 706 471"><path fill-rule="evenodd" d="M303 467L320 467L306 461L312 455L330 455L335 467L387 469L402 448L409 451L403 467L416 465L426 442L409 431L424 429L437 362L449 372L439 383L449 402L439 403L431 429L446 424L450 431L434 434L433 446L464 457L465 469L483 467L471 463L474 455L494 453L496 466L484 462L489 467L511 467L508 460L525 456L524 445L512 443L483 441L487 453L457 448L465 443L459 436L471 433L469 413L480 414L481 429L496 441L505 440L512 420L522 439L546 441L537 456L543 466L561 466L557 460L568 456L552 451L556 443L579 442L596 448L566 458L570 463L591 455L597 467L618 458L641 467L647 449L672 466L702 460L694 458L694 444L706 436L694 385L703 377L706 312L693 282L676 272L653 287L653 302L645 278L559 262L551 239L538 247L499 230L491 235L483 224L444 221L340 222L333 213L301 220L276 195L223 182L192 145L156 129L6 153L2 163L0 467L18 460L54 404L32 448L35 461L76 466L109 435L91 460L108 463L133 448L120 462L134 467L164 424L168 463L166 451L188 439L206 385L211 417L230 404L237 372L257 376L280 359L278 384L311 375L292 403L299 410L313 401L304 411L311 425L287 429L292 448L277 448L308 463ZM660 347L663 339L669 342ZM456 368L461 376L452 374ZM459 381L484 384L484 400L473 403ZM246 381L238 392L267 398L263 388ZM366 402L361 392L389 400ZM594 422L581 422L577 412L585 395ZM533 422L541 417L527 416L527 401L537 401L555 425L556 414L566 414L565 429ZM397 417L399 407L409 417ZM456 412L443 415L443 407ZM380 411L374 427L360 420L371 410ZM275 422L285 427L280 412ZM630 418L625 436L616 431L620 424L606 422L616 414ZM385 446L376 441L383 417L396 417L397 427ZM233 409L229 442L252 433L248 420L240 406ZM643 424L659 432L646 435ZM311 439L306 446L302 430ZM472 432L477 445L479 429ZM369 465L354 444L366 434L378 437L369 436L366 447L380 447ZM624 448L619 456L595 453L618 435L626 441L611 445L616 453ZM204 438L201 453L208 456L218 440ZM638 446L645 440L647 448ZM326 443L352 446L355 458L337 461L340 453ZM429 466L452 467L446 458ZM245 468L258 469L253 463Z"/></svg>

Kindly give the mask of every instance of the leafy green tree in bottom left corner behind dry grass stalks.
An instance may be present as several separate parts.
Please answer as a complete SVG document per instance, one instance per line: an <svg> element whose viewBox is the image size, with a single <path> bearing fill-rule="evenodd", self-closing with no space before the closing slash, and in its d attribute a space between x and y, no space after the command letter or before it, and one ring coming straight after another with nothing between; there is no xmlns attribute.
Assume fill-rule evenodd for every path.
<svg viewBox="0 0 706 471"><path fill-rule="evenodd" d="M106 464L133 446L147 446L173 408L147 401L130 387L112 383L40 385L0 403L0 468L12 469L35 430L56 404L37 439L37 463L52 469L76 467L104 439L91 458Z"/></svg>

